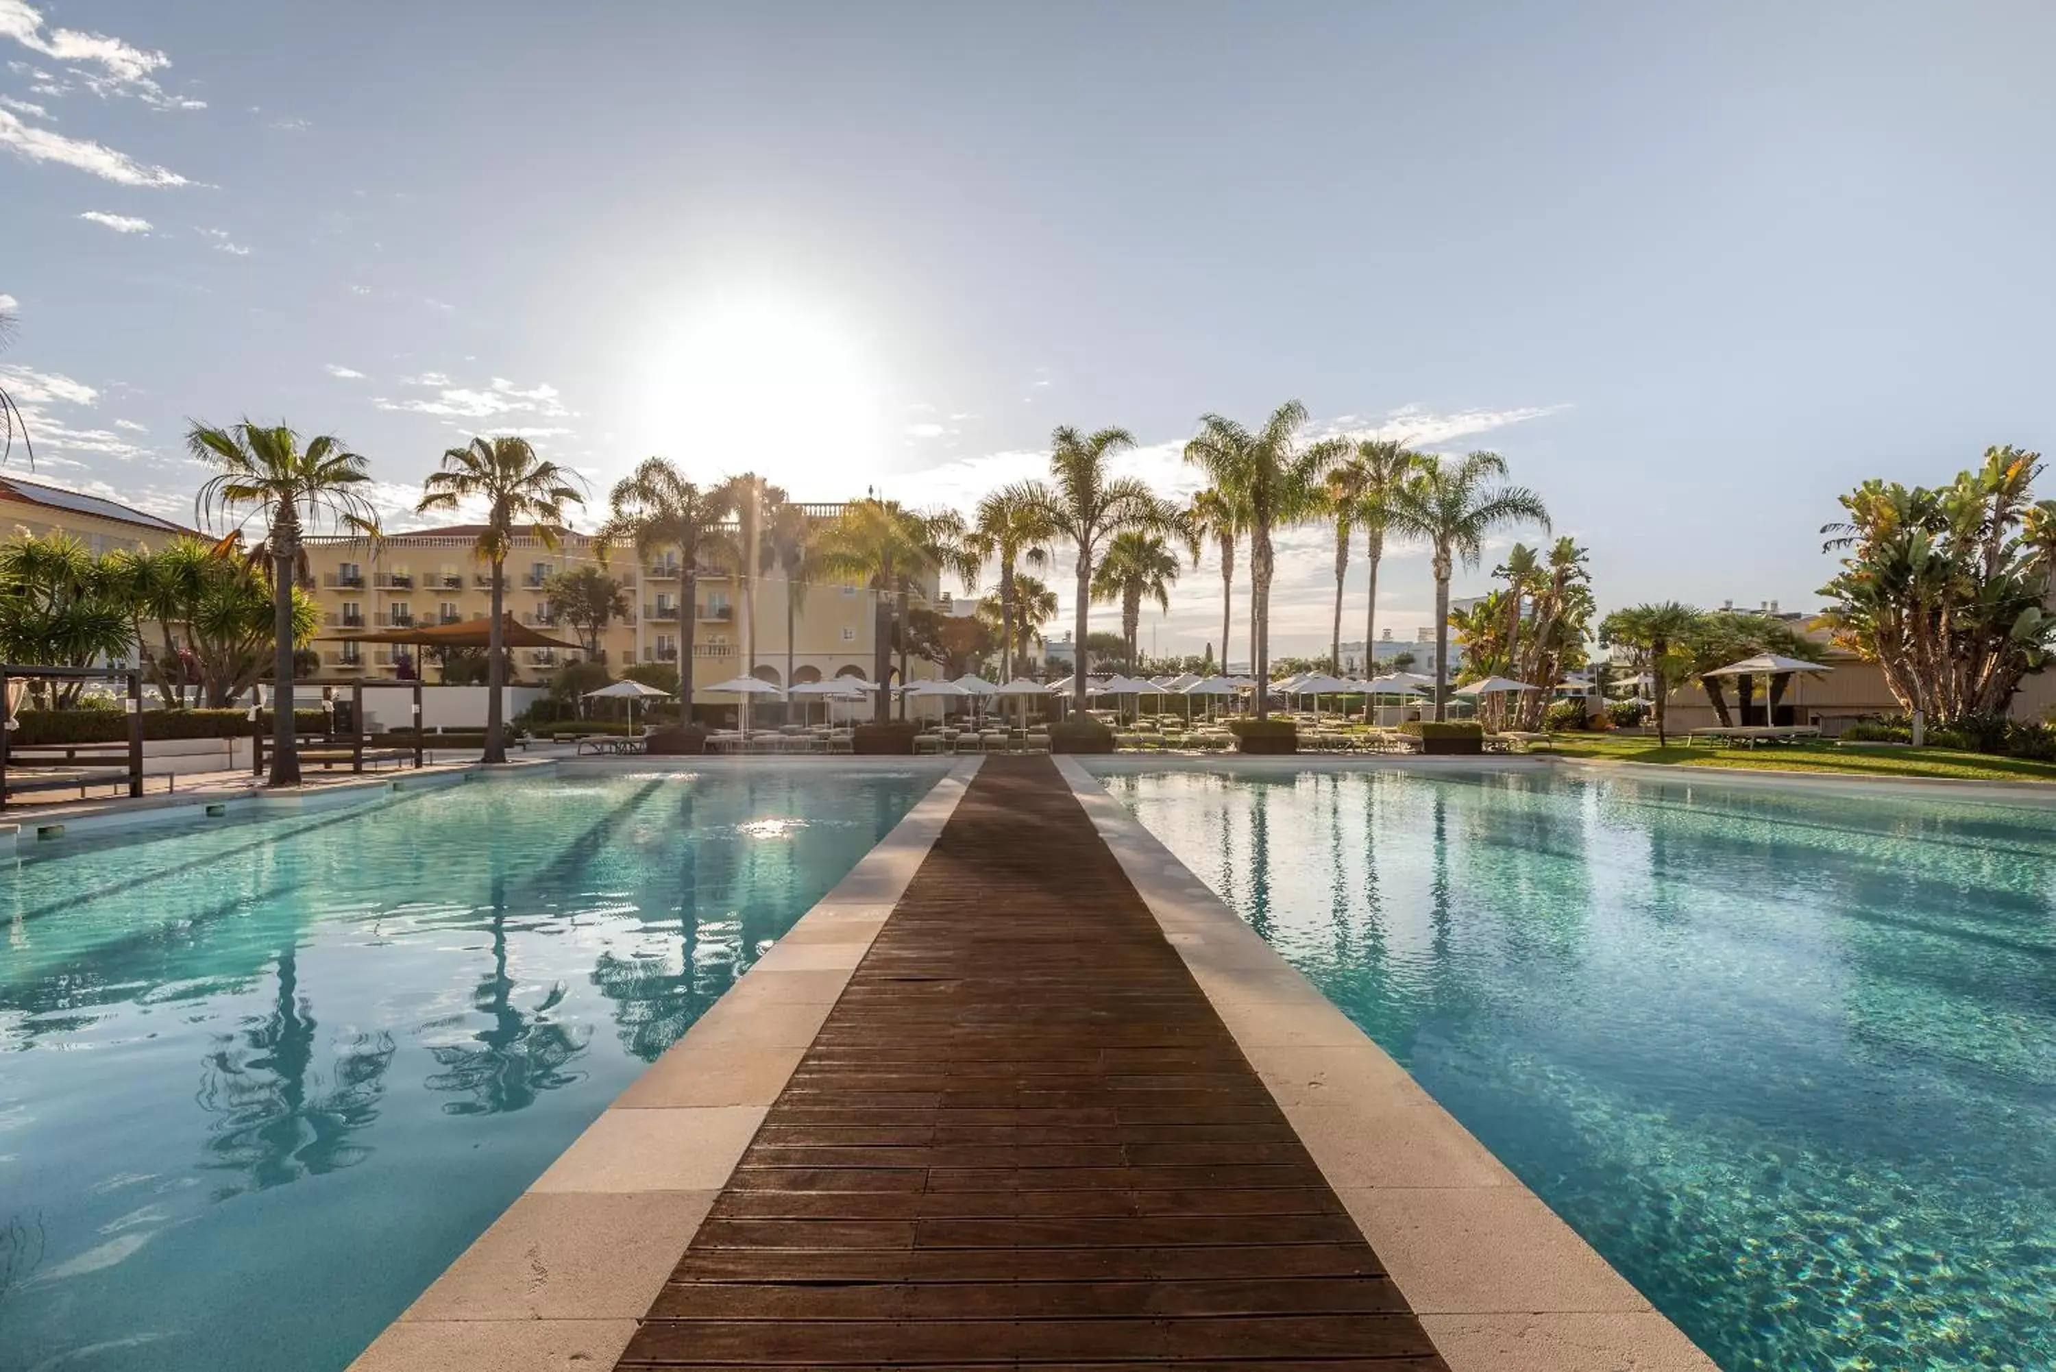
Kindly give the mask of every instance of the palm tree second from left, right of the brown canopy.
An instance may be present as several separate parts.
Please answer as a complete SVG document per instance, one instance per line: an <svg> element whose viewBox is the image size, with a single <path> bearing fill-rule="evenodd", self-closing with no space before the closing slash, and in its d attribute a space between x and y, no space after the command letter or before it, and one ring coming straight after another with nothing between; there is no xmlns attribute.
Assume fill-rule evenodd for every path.
<svg viewBox="0 0 2056 1372"><path fill-rule="evenodd" d="M578 481L578 485L574 485ZM415 514L454 510L465 500L485 502L485 529L471 553L493 564L493 619L485 650L485 761L504 763L508 660L502 642L506 601L506 562L514 551L514 533L524 529L543 547L555 549L563 531L567 502L584 504L584 481L557 463L537 457L526 438L473 438L463 448L442 453L442 471L428 473Z"/></svg>

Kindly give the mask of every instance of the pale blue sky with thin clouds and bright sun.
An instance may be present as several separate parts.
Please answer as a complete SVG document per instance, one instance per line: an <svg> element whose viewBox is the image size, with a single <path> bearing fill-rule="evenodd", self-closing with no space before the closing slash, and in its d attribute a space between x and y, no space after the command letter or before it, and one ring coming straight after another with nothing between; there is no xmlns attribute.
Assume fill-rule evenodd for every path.
<svg viewBox="0 0 2056 1372"><path fill-rule="evenodd" d="M1811 609L1838 494L2050 442L2052 53L2040 0L0 0L0 387L43 479L189 516L247 413L395 529L481 432L594 514L650 455L968 510L1059 424L1186 494L1295 397L1501 453L1602 607ZM1273 654L1332 559L1279 539Z"/></svg>

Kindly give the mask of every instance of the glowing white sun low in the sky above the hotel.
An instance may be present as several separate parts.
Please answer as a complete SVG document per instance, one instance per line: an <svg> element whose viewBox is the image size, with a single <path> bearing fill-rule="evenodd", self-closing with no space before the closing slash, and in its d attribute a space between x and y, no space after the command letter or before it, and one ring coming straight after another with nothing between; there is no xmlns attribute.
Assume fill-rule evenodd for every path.
<svg viewBox="0 0 2056 1372"><path fill-rule="evenodd" d="M755 471L794 500L845 500L882 467L872 350L818 304L779 292L701 300L662 327L637 370L637 432L695 479Z"/></svg>

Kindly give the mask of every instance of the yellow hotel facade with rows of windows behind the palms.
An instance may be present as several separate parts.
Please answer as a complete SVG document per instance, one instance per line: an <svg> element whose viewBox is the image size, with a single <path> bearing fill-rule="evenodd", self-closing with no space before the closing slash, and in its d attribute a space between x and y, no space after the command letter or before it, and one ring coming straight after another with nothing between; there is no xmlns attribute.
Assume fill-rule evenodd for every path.
<svg viewBox="0 0 2056 1372"><path fill-rule="evenodd" d="M820 520L841 506L806 506ZM473 555L475 525L395 533L382 539L310 537L306 557L313 590L321 603L321 675L389 679L411 650L399 644L358 644L356 634L389 634L413 625L461 623L491 615L491 564ZM559 572L582 566L604 570L623 584L629 601L625 619L600 634L598 660L617 675L633 662L666 662L691 671L695 689L742 675L757 675L785 687L824 677L872 677L878 592L845 580L790 584L783 572L755 578L755 652L744 623L742 582L730 568L703 568L695 578L693 603L685 603L678 553L637 557L617 547L602 562L590 535L567 531L557 547L535 535L516 535L506 559L504 611L522 625L580 644L578 648L516 648L514 671L524 683L547 679L557 666L592 656L582 636L551 613L547 584ZM946 607L935 578L915 594L917 605ZM792 605L792 650L787 654L785 609ZM685 623L691 615L693 650L685 658ZM746 662L755 658L755 673ZM787 658L792 679L787 681ZM935 666L909 660L911 679L935 677ZM434 681L434 666L428 671Z"/></svg>

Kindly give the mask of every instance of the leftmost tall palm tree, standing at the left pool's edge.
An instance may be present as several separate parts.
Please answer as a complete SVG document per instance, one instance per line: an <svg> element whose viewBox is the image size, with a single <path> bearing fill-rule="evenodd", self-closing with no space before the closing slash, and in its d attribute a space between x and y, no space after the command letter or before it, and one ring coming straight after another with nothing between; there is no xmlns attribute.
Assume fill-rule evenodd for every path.
<svg viewBox="0 0 2056 1372"><path fill-rule="evenodd" d="M304 446L284 424L263 426L243 420L228 428L193 424L185 448L195 461L216 469L193 500L195 518L206 525L247 508L230 533L253 516L265 520L265 541L255 557L271 562L271 786L300 784L300 753L292 732L292 588L300 574L300 533L306 520L323 520L378 537L378 520L364 488L372 479L358 453L341 438L321 434Z"/></svg>

